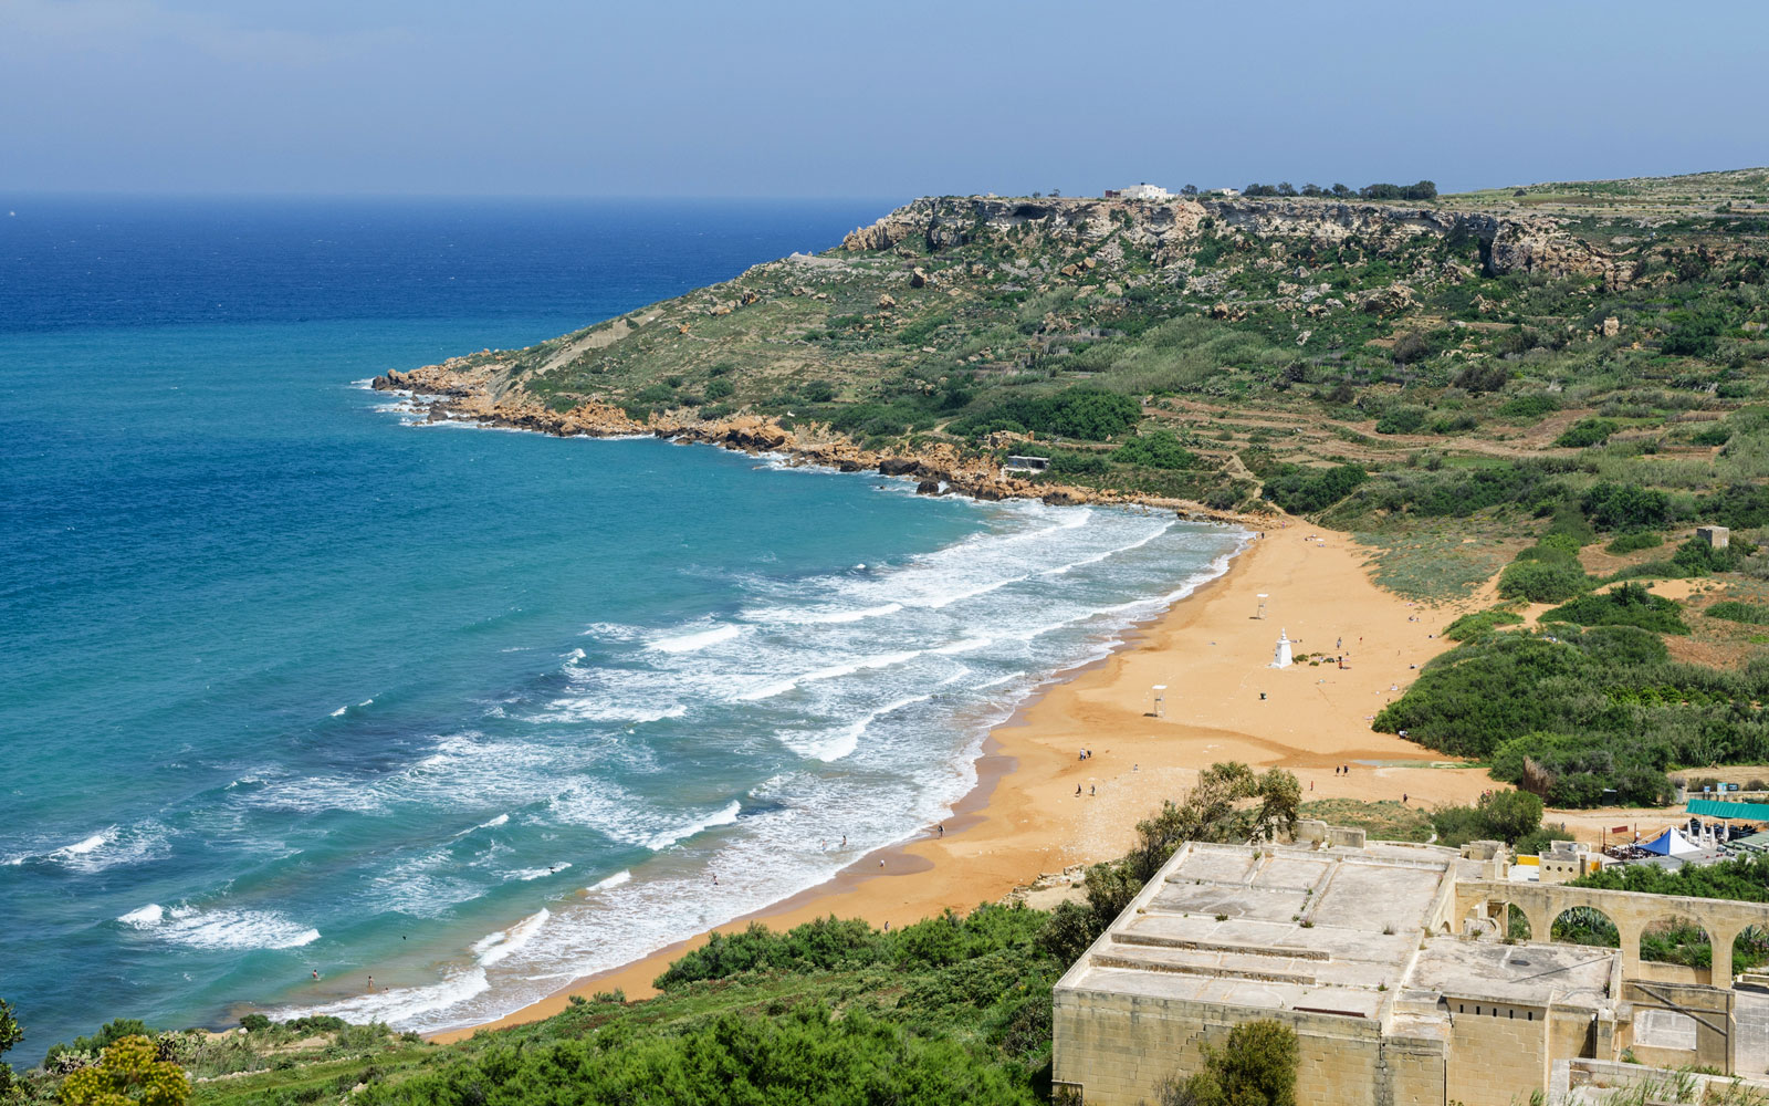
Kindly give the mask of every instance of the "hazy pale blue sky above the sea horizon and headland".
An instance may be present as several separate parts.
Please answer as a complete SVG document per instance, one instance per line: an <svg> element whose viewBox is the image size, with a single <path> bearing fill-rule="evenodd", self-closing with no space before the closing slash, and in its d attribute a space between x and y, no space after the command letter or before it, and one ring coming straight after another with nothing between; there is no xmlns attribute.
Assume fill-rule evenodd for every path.
<svg viewBox="0 0 1769 1106"><path fill-rule="evenodd" d="M0 0L0 191L915 196L1769 165L1769 4Z"/></svg>

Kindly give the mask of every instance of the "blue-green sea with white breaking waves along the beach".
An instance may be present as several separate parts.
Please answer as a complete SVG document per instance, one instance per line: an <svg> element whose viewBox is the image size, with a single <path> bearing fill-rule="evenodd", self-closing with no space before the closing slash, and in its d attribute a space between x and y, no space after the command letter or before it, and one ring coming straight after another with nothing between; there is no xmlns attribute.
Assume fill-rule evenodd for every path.
<svg viewBox="0 0 1769 1106"><path fill-rule="evenodd" d="M1171 515L414 426L363 384L888 207L0 196L21 1058L509 1012L916 833L1031 688L1221 572L1237 534Z"/></svg>

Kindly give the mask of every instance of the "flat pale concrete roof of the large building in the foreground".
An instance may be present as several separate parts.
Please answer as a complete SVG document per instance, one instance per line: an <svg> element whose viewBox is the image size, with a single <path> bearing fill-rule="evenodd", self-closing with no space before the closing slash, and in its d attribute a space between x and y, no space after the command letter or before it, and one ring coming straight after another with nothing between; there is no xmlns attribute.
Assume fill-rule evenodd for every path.
<svg viewBox="0 0 1769 1106"><path fill-rule="evenodd" d="M1481 862L1436 846L1191 842L1058 989L1344 1014L1403 1035L1442 1032L1438 996L1603 1003L1615 950L1433 936L1458 878L1484 878Z"/></svg>

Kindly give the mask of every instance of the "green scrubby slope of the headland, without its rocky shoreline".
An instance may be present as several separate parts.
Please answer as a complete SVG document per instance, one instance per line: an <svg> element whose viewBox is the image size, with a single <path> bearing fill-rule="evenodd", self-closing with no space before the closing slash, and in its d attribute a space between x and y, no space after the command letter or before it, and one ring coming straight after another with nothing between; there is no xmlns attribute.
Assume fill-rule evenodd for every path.
<svg viewBox="0 0 1769 1106"><path fill-rule="evenodd" d="M1148 216L1132 207L1109 212L1104 235L975 225L948 248L909 235L892 250L773 262L492 357L515 361L517 389L557 407L755 411L831 421L874 444L980 446L976 432L1005 402L1106 388L1148 400L1141 430L1171 430L1194 464L1122 464L1114 442L1083 444L1086 464L1063 481L1231 506L1286 465L1353 464L1371 480L1327 520L1389 547L1428 533L1444 545L1444 520L1454 540L1532 536L1541 503L1512 495L1468 511L1456 495L1520 460L1546 460L1564 494L1601 480L1665 488L1688 518L1698 494L1769 476L1769 442L1748 411L1769 366L1769 173L1511 191L1447 196L1438 209L1553 219L1566 241L1612 257L1626 287L1482 276L1470 235L1327 241L1222 221L1187 241L1187 255L1157 255L1136 244L1132 223ZM1307 211L1297 200L1240 211L1260 204ZM1419 205L1389 205L1408 207ZM913 267L925 287L911 287ZM1410 304L1366 310L1396 283ZM610 333L626 336L598 345ZM1567 430L1587 419L1608 437L1555 444L1580 441ZM1447 596L1507 559L1442 552L1413 570L1398 552L1385 568L1408 595Z"/></svg>

